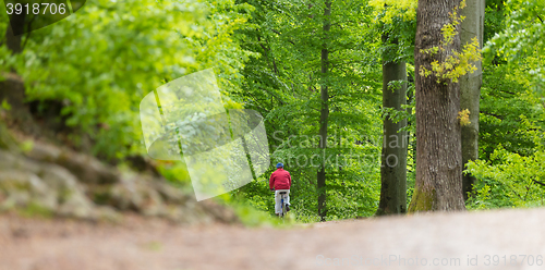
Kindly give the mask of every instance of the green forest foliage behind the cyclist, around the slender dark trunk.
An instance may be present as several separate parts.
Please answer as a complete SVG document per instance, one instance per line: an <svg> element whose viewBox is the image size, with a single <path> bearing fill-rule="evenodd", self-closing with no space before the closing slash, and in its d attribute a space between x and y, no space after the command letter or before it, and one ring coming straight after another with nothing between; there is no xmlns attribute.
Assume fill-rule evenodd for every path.
<svg viewBox="0 0 545 270"><path fill-rule="evenodd" d="M255 7L250 26L238 32L241 47L259 56L246 63L245 84L231 96L265 116L271 163L283 162L293 179L290 202L295 218L319 219L316 171L324 156L332 160L326 163L327 219L373 214L379 189L379 147L373 143L379 144L382 134L382 74L379 35L375 27L366 27L373 25L372 9L361 1L331 1L331 29L326 35L325 1L240 2ZM323 48L330 52L327 76L320 73ZM316 137L322 86L329 89L330 111L325 154ZM356 145L370 138L374 142L367 146ZM335 159L343 157L347 164L339 165ZM274 214L270 172L241 188L240 196Z"/></svg>

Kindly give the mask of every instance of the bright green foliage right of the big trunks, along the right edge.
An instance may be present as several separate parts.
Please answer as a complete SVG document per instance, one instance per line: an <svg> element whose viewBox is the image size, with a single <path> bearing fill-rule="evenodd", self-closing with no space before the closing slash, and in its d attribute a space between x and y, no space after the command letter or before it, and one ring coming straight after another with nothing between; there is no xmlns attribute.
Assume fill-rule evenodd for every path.
<svg viewBox="0 0 545 270"><path fill-rule="evenodd" d="M468 208L543 206L545 191L538 184L544 176L545 115L538 78L543 3L487 4L487 16L492 15L485 22L489 40L481 91L481 160L468 165L467 172L479 180Z"/></svg>

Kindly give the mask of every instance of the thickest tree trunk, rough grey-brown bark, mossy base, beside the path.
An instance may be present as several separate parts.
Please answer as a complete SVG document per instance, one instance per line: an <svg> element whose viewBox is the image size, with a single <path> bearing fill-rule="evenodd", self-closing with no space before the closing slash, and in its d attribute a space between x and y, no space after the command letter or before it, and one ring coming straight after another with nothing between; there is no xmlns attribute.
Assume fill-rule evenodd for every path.
<svg viewBox="0 0 545 270"><path fill-rule="evenodd" d="M460 0L420 0L416 15L415 70L432 70L433 61L444 62L452 50L460 49L460 36L441 45L441 27L451 23L449 13ZM459 27L457 27L459 28ZM435 54L422 49L444 46ZM446 46L446 47L445 47ZM460 85L437 82L435 75L416 72L416 182L409 212L462 210L462 155Z"/></svg>

